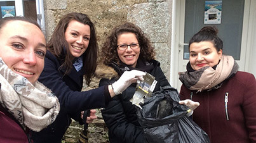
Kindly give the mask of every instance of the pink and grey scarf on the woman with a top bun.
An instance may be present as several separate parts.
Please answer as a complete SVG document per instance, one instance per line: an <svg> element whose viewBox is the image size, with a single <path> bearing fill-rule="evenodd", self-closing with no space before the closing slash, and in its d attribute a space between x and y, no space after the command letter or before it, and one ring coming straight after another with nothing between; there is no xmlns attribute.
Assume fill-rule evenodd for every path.
<svg viewBox="0 0 256 143"><path fill-rule="evenodd" d="M190 63L188 63L190 64ZM187 66L188 67L188 66ZM179 72L180 81L190 90L212 90L221 87L222 82L238 71L238 63L232 56L222 56L216 69L206 66L196 71Z"/></svg>

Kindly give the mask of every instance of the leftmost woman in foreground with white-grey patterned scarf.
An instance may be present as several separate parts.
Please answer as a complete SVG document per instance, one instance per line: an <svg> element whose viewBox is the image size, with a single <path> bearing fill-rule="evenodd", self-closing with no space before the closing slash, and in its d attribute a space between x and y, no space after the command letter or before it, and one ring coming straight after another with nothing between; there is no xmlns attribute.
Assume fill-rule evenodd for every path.
<svg viewBox="0 0 256 143"><path fill-rule="evenodd" d="M37 81L46 41L36 21L22 16L0 20L0 142L30 143L55 121L60 103Z"/></svg>

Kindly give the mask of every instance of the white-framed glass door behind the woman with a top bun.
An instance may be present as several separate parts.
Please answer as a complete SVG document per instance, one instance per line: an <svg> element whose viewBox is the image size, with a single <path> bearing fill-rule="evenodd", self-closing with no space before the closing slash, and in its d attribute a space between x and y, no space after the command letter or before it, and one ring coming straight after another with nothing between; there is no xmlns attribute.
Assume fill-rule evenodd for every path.
<svg viewBox="0 0 256 143"><path fill-rule="evenodd" d="M233 56L238 62L239 70L245 71L250 1L223 0L219 24L204 23L205 0L173 1L173 15L175 15L172 40L172 56L174 58L172 58L173 64L171 65L171 84L173 87L180 90L182 85L179 76L175 74L179 71L186 71L186 65L189 61L189 40L192 35L205 26L214 25L219 29L219 37L224 42L224 54Z"/></svg>

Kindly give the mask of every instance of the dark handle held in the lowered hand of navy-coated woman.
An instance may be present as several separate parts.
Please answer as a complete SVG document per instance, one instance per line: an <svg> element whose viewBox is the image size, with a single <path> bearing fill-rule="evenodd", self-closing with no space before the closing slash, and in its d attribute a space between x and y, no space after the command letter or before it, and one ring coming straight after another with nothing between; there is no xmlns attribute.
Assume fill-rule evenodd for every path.
<svg viewBox="0 0 256 143"><path fill-rule="evenodd" d="M84 123L84 129L79 135L78 142L79 143L88 143L88 123L86 123L87 116L90 116L90 109L84 111L83 115L83 123Z"/></svg>

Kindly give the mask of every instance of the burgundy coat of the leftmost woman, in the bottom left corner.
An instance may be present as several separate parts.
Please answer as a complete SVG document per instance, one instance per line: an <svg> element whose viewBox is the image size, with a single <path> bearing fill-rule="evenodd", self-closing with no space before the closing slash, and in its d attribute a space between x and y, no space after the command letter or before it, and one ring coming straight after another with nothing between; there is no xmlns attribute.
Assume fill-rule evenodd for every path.
<svg viewBox="0 0 256 143"><path fill-rule="evenodd" d="M27 135L29 135L29 130L25 132L0 104L0 142L27 143L29 142Z"/></svg>

